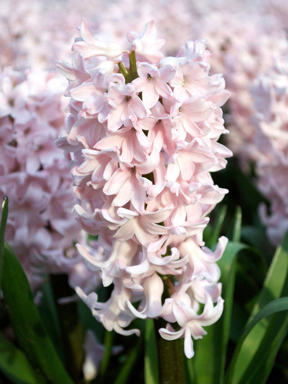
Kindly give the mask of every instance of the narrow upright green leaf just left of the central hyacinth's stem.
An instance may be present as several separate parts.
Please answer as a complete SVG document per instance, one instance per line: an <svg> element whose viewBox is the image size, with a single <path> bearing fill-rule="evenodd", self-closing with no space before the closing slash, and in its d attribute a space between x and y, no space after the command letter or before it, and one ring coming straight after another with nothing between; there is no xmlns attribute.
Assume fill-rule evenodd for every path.
<svg viewBox="0 0 288 384"><path fill-rule="evenodd" d="M158 384L158 354L153 319L145 320L144 377L145 384Z"/></svg>

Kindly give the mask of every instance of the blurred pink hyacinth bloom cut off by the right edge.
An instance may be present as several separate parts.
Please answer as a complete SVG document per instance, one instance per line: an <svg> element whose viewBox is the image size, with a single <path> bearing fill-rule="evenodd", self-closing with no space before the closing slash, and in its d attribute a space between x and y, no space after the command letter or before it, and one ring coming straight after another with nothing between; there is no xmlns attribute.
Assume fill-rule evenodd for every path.
<svg viewBox="0 0 288 384"><path fill-rule="evenodd" d="M251 89L254 97L258 187L271 202L261 206L267 233L279 245L288 230L288 56L261 75Z"/></svg>

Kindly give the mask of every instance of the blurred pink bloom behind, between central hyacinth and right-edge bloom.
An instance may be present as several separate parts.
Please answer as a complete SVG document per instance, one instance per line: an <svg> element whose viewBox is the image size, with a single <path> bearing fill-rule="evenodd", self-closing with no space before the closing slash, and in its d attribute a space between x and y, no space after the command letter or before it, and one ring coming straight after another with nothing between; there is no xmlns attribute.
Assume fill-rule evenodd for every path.
<svg viewBox="0 0 288 384"><path fill-rule="evenodd" d="M198 30L208 40L213 54L213 72L222 72L231 92L226 123L229 148L244 167L258 159L254 145L255 129L251 83L273 65L275 58L288 52L285 30L267 14L247 11L216 11L208 14Z"/></svg>

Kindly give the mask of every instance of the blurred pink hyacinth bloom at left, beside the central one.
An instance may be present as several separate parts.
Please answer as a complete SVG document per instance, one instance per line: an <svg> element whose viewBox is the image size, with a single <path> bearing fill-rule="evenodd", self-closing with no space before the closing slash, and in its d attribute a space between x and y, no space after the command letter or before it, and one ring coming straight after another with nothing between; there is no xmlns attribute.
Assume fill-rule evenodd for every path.
<svg viewBox="0 0 288 384"><path fill-rule="evenodd" d="M8 196L5 238L33 291L47 273L94 287L73 242L85 242L74 215L72 178L55 138L65 125L63 79L43 71L0 72L0 199ZM87 278L90 279L89 283Z"/></svg>

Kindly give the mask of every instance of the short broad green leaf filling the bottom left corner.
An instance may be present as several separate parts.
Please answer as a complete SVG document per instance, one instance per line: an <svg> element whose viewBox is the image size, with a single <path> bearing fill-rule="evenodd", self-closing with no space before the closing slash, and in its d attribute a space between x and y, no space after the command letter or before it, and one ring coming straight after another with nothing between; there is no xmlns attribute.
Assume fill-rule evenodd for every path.
<svg viewBox="0 0 288 384"><path fill-rule="evenodd" d="M15 384L47 384L24 353L0 333L0 371Z"/></svg>

